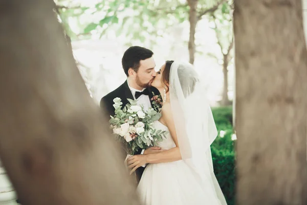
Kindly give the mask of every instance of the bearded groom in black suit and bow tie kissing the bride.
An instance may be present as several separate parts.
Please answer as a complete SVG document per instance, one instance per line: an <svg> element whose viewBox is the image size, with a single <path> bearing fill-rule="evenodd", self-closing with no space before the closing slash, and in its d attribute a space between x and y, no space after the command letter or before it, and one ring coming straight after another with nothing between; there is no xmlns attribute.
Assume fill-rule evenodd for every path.
<svg viewBox="0 0 307 205"><path fill-rule="evenodd" d="M152 92L156 95L160 93L155 87L151 87L151 83L157 75L155 71L156 63L152 55L151 50L139 46L130 47L125 51L122 57L122 66L127 75L127 80L100 100L100 107L106 109L109 115L114 116L115 114L113 99L116 97L121 98L122 108L129 103L127 99L138 99L138 105L143 105L145 110L153 107L151 102ZM136 154L149 154L159 150L159 147L151 147L146 150L140 150ZM142 177L144 167L136 170L138 182Z"/></svg>

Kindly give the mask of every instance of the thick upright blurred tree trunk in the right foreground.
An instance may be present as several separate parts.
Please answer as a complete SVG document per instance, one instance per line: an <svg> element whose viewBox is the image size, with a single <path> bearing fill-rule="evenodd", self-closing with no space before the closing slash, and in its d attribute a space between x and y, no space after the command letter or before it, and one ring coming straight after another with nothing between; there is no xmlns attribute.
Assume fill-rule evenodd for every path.
<svg viewBox="0 0 307 205"><path fill-rule="evenodd" d="M237 204L307 204L301 0L235 1L234 35Z"/></svg>

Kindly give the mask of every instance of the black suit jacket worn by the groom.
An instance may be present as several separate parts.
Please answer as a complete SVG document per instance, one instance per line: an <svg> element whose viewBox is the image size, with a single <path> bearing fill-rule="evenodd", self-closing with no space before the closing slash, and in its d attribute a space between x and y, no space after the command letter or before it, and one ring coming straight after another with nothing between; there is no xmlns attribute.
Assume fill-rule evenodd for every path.
<svg viewBox="0 0 307 205"><path fill-rule="evenodd" d="M160 95L160 92L158 91L157 88L151 87L151 88L149 88L149 96L148 96L149 99L151 99L153 97L152 92L155 93L155 95ZM113 104L114 104L113 99L116 98L116 97L121 98L121 101L123 103L122 108L124 108L129 103L129 101L127 99L134 99L134 96L132 95L132 93L129 89L127 80L121 86L119 86L117 89L115 89L111 93L108 93L107 95L105 95L104 97L101 98L100 108L106 110L109 115L114 116L115 108L113 107ZM150 103L151 103L151 100L150 100ZM152 106L152 104L151 104L151 106ZM110 117L108 116L108 119L109 118ZM139 152L136 153L136 154L141 154L141 152L142 152L142 150L140 149ZM124 153L124 157L126 157L125 154L126 153ZM143 167L140 167L136 170L138 182L140 181L140 179L142 177L143 171L144 171Z"/></svg>

